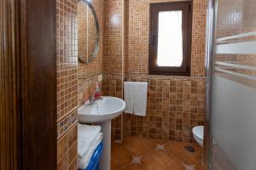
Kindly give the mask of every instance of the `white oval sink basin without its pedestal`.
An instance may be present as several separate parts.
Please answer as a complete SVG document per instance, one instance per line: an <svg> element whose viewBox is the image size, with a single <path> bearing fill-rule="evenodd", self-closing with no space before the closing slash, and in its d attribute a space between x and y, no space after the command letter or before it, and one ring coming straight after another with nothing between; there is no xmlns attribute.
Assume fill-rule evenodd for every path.
<svg viewBox="0 0 256 170"><path fill-rule="evenodd" d="M102 97L92 105L84 104L79 107L80 123L107 122L119 116L125 110L125 101L115 97Z"/></svg>

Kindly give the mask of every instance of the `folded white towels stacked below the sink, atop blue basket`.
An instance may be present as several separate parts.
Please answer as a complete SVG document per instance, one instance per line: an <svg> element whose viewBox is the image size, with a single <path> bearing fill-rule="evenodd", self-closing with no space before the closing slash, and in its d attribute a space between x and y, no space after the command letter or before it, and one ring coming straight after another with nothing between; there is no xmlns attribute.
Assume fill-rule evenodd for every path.
<svg viewBox="0 0 256 170"><path fill-rule="evenodd" d="M90 149L102 127L79 124L78 129L78 154L81 157Z"/></svg>

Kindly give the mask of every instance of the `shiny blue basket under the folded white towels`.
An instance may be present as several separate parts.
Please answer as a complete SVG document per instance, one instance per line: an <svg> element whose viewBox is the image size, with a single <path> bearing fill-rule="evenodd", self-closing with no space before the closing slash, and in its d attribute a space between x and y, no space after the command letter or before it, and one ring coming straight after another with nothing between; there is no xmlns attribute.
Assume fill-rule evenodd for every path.
<svg viewBox="0 0 256 170"><path fill-rule="evenodd" d="M102 156L102 150L103 150L103 144L99 144L96 148L96 150L93 152L90 161L88 163L88 166L85 168L85 170L98 170L99 169L99 161Z"/></svg>

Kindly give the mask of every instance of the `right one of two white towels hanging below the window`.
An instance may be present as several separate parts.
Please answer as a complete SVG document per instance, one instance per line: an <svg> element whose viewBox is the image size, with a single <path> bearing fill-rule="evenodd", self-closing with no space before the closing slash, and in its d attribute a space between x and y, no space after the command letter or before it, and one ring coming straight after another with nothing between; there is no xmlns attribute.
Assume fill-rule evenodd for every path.
<svg viewBox="0 0 256 170"><path fill-rule="evenodd" d="M134 82L134 114L146 116L148 82Z"/></svg>

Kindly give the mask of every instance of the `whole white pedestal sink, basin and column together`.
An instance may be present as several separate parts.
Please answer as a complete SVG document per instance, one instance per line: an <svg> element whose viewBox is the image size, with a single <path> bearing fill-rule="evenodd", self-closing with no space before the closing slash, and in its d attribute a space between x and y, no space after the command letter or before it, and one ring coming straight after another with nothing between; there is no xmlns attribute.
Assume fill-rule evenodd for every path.
<svg viewBox="0 0 256 170"><path fill-rule="evenodd" d="M103 152L100 170L111 168L111 120L125 111L125 101L115 97L102 97L92 105L79 107L79 123L96 123L102 127Z"/></svg>

